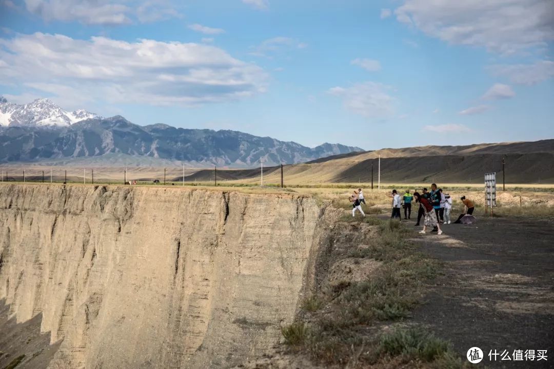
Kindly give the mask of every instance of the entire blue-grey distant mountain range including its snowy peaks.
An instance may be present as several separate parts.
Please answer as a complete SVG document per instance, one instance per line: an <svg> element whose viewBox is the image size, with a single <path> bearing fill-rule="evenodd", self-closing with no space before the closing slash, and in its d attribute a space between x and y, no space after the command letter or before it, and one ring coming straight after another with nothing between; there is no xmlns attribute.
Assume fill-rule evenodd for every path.
<svg viewBox="0 0 554 369"><path fill-rule="evenodd" d="M232 168L294 164L362 151L324 143L314 148L237 131L139 126L124 117L102 118L85 110L67 112L42 98L27 105L0 97L0 162L95 158L110 165L114 154L158 158L189 166ZM140 160L139 160L140 165Z"/></svg>

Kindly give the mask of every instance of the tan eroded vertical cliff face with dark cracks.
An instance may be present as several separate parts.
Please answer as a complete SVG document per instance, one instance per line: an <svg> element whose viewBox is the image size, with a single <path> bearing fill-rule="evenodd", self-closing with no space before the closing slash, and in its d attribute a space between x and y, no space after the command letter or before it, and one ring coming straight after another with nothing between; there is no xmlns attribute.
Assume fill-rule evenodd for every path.
<svg viewBox="0 0 554 369"><path fill-rule="evenodd" d="M290 323L317 247L310 198L0 185L0 299L42 313L51 368L224 368Z"/></svg>

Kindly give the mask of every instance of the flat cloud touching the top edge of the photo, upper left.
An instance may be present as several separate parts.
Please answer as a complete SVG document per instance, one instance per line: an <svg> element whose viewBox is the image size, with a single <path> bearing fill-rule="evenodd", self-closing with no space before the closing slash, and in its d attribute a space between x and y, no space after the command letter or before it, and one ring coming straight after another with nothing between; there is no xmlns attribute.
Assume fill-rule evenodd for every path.
<svg viewBox="0 0 554 369"><path fill-rule="evenodd" d="M129 24L178 17L168 0L24 0L27 11L43 19L84 24Z"/></svg>

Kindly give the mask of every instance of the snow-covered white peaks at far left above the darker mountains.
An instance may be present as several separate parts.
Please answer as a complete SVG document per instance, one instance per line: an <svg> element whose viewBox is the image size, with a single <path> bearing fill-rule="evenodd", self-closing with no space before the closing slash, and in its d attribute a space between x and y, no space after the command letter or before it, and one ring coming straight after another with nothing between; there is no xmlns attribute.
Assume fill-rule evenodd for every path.
<svg viewBox="0 0 554 369"><path fill-rule="evenodd" d="M101 117L85 110L65 111L47 98L18 105L0 96L0 126L68 127L89 118Z"/></svg>

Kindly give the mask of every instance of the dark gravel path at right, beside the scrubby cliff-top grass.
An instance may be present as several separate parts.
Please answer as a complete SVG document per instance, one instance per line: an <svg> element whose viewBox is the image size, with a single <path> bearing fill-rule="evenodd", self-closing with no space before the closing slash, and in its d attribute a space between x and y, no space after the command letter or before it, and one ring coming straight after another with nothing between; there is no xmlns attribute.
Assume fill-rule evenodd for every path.
<svg viewBox="0 0 554 369"><path fill-rule="evenodd" d="M413 240L445 262L445 275L413 314L462 356L483 350L481 367L554 367L554 222L478 218L475 225L445 225L444 235ZM496 361L490 350L547 350L547 361ZM537 353L537 351L535 351Z"/></svg>

